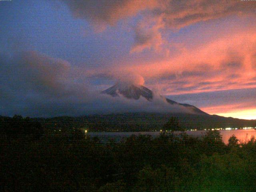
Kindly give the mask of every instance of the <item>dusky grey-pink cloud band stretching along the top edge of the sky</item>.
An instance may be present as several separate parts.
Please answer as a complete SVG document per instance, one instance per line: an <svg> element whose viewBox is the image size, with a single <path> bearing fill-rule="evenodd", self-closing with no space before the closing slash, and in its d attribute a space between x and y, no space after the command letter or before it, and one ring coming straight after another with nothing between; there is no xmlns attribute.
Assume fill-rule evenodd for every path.
<svg viewBox="0 0 256 192"><path fill-rule="evenodd" d="M147 10L145 16L161 16L162 21L170 28L182 28L190 24L231 14L254 13L256 4L253 1L229 0L62 0L76 18L95 22L114 24L118 20L135 16Z"/></svg>

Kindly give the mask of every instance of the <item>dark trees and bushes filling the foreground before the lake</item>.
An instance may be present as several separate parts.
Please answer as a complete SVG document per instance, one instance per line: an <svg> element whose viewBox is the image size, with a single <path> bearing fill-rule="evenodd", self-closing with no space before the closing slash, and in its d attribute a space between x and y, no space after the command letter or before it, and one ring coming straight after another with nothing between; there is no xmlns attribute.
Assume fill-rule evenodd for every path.
<svg viewBox="0 0 256 192"><path fill-rule="evenodd" d="M0 123L1 191L256 191L254 138L239 144L232 136L225 145L214 130L201 138L161 134L101 143L76 128L48 133L20 116Z"/></svg>

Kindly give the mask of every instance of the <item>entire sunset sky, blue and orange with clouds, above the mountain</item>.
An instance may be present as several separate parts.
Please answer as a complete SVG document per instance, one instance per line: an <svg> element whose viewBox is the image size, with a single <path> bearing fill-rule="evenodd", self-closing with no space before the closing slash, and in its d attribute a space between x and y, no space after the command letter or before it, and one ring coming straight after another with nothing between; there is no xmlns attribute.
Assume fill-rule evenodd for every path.
<svg viewBox="0 0 256 192"><path fill-rule="evenodd" d="M11 0L0 17L0 115L81 115L92 92L129 76L256 119L256 1Z"/></svg>

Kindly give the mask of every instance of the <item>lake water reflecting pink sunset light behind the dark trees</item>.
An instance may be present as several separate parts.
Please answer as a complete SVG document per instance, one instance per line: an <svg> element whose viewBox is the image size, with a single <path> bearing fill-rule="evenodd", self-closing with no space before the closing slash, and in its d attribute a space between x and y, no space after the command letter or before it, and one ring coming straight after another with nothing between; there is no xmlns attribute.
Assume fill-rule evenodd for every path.
<svg viewBox="0 0 256 192"><path fill-rule="evenodd" d="M174 134L180 134L181 132L174 132ZM200 137L205 131L186 131L186 133L190 136ZM108 141L108 139L112 138L116 141L122 140L122 138L129 137L131 135L151 135L152 137L157 137L160 135L160 132L88 132L87 135L94 137L98 136L102 141ZM220 134L222 135L222 140L224 143L228 143L228 139L234 134L240 142L246 142L250 140L252 136L256 137L256 130L220 130Z"/></svg>

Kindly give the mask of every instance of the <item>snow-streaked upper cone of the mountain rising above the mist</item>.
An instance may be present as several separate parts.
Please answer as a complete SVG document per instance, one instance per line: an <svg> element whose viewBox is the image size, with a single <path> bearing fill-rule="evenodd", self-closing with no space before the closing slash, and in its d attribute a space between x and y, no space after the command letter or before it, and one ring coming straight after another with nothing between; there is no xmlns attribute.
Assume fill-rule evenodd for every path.
<svg viewBox="0 0 256 192"><path fill-rule="evenodd" d="M124 96L127 99L133 99L138 100L140 97L145 98L148 100L148 102L152 102L154 99L154 96L156 96L157 93L153 92L152 90L146 88L143 85L139 84L132 84L132 83L126 83L126 82L118 82L114 86L102 91L102 94L108 94L113 97L118 97L120 95ZM182 107L187 109L187 113L193 113L198 115L209 115L206 112L203 112L199 108L196 108L195 106L189 105L189 104L183 104L178 103L173 100L170 100L168 98L165 98L164 96L160 96L162 99L164 99L167 104L170 104L175 107Z"/></svg>

